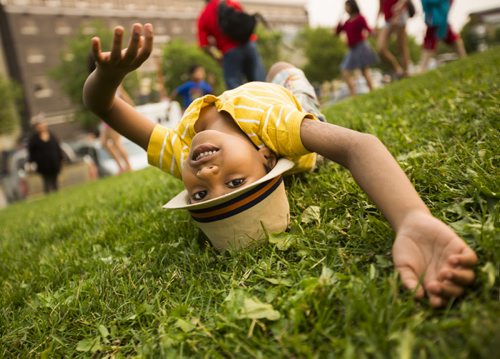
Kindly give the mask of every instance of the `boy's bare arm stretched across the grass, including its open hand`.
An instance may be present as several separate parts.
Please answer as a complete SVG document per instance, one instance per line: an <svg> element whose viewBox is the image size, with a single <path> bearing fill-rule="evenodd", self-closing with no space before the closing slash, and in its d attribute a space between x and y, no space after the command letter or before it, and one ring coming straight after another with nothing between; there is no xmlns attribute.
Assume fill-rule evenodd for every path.
<svg viewBox="0 0 500 359"><path fill-rule="evenodd" d="M418 298L434 307L460 296L474 281L476 254L433 217L387 148L375 136L304 119L304 146L349 169L396 232L394 265ZM421 285L420 285L421 283ZM422 287L423 286L423 287Z"/></svg>

